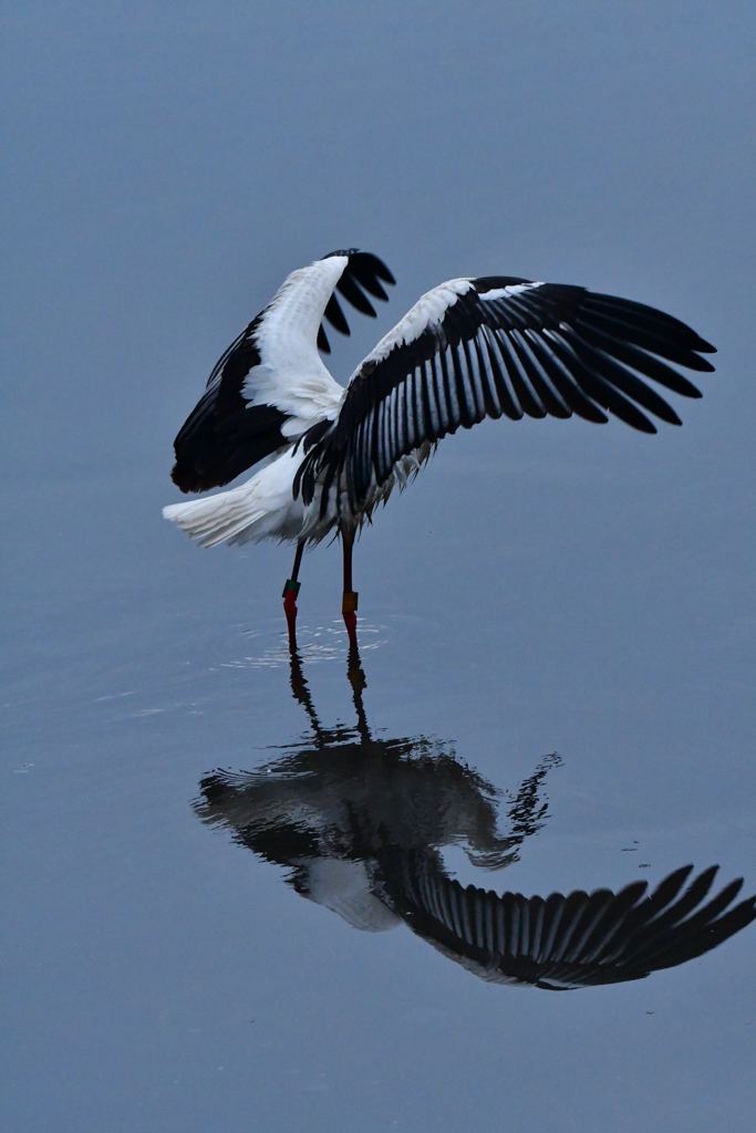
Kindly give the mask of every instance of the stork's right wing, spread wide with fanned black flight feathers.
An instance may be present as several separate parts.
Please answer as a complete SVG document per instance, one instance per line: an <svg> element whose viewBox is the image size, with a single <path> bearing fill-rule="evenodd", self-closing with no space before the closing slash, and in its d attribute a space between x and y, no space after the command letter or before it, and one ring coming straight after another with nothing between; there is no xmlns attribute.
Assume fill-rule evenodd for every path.
<svg viewBox="0 0 756 1133"><path fill-rule="evenodd" d="M609 412L655 433L645 409L679 425L644 378L699 398L668 363L712 370L700 357L710 351L685 323L639 303L503 275L450 280L424 295L357 368L296 489L309 503L321 478L358 509L402 457L484 417L577 414L605 423Z"/></svg>

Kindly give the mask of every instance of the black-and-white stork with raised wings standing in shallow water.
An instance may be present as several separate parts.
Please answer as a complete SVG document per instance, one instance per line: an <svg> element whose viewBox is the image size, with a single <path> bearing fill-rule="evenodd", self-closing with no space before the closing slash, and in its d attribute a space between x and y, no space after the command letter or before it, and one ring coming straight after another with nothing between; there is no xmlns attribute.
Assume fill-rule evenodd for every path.
<svg viewBox="0 0 756 1133"><path fill-rule="evenodd" d="M218 360L173 448L185 493L238 487L163 508L201 546L296 543L283 607L294 639L306 546L334 531L343 551L342 615L356 641L355 536L394 487L404 489L439 441L486 417L617 417L656 433L680 425L656 391L700 391L680 373L714 367L715 348L671 315L562 283L486 275L423 295L357 366L346 386L330 374L328 321L350 329L339 303L375 317L396 280L358 248L294 271ZM338 295L337 295L338 292ZM672 364L672 365L670 365Z"/></svg>

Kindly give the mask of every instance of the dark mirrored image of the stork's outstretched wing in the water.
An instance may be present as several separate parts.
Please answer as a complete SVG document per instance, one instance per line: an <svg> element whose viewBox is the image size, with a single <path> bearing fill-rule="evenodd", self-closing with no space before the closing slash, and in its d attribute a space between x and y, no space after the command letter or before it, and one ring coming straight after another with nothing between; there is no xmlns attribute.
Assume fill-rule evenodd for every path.
<svg viewBox="0 0 756 1133"><path fill-rule="evenodd" d="M405 858L388 888L410 928L475 974L550 990L637 980L715 948L756 919L756 896L725 912L742 879L702 905L719 869L682 887L693 866L646 896L637 881L614 894L576 891L524 897L466 889ZM397 884L398 883L398 884Z"/></svg>

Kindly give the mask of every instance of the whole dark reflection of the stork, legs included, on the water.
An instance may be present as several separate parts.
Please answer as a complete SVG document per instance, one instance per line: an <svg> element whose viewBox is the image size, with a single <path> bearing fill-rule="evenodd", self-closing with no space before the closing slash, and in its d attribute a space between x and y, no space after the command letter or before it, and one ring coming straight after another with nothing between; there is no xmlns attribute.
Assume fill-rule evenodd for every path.
<svg viewBox="0 0 756 1133"><path fill-rule="evenodd" d="M543 781L559 757L546 757L504 796L443 744L372 735L356 648L349 679L356 725L323 727L292 647L291 689L312 735L260 770L207 776L195 808L203 821L230 827L237 842L287 867L298 893L355 928L404 922L485 980L561 990L673 968L756 919L756 896L732 904L741 879L706 901L716 866L696 877L693 866L678 869L651 894L645 881L546 898L462 887L443 849L461 846L483 869L517 861L546 819Z"/></svg>

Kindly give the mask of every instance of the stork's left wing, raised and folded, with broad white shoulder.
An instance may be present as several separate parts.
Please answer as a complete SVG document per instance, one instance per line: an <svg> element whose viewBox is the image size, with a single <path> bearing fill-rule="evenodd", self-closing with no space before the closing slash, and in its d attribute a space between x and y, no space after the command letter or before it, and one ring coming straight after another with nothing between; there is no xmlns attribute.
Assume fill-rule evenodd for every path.
<svg viewBox="0 0 756 1133"><path fill-rule="evenodd" d="M349 334L334 290L374 316L365 292L387 299L381 280L394 282L376 256L357 248L330 253L289 275L218 360L176 437L172 478L182 492L228 484L317 421L337 416L343 389L317 352L330 351L322 321Z"/></svg>

